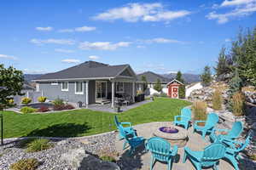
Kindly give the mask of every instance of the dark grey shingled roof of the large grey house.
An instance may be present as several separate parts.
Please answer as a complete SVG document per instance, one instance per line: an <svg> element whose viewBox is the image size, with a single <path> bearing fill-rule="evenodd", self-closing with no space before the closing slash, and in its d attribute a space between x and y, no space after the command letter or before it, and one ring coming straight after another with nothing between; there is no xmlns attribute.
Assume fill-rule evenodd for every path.
<svg viewBox="0 0 256 170"><path fill-rule="evenodd" d="M54 73L48 73L37 80L65 80L65 79L86 79L86 78L113 78L119 76L126 69L131 71L131 74L135 76L130 65L106 65L96 61L86 61L82 64L75 65L73 67L57 71Z"/></svg>

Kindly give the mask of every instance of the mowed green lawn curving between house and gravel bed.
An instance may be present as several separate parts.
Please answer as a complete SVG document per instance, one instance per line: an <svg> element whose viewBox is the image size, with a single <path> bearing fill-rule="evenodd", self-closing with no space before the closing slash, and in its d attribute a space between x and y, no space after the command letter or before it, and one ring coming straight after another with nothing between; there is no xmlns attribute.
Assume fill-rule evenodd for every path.
<svg viewBox="0 0 256 170"><path fill-rule="evenodd" d="M154 102L117 114L120 122L133 125L145 122L173 121L180 109L189 102L178 99L157 98ZM77 137L104 133L115 129L116 114L77 110L49 114L20 115L12 111L3 112L4 138L23 136Z"/></svg>

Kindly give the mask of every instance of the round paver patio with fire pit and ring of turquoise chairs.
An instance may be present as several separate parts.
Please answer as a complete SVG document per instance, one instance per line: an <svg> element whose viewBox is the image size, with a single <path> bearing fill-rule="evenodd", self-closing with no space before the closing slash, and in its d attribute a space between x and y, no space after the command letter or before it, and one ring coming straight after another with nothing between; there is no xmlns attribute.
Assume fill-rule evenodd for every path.
<svg viewBox="0 0 256 170"><path fill-rule="evenodd" d="M189 115L187 112L183 110L181 115ZM191 117L187 118L190 122ZM239 142L241 122L234 123L230 130L221 129L222 124L218 123L215 113L208 114L205 125L189 122L188 126L183 123L180 123L183 126L176 126L177 122L150 122L132 127L131 122L119 122L115 117L119 129L115 144L121 168L239 170L243 166L241 151L250 143L252 132L247 132L246 139Z"/></svg>

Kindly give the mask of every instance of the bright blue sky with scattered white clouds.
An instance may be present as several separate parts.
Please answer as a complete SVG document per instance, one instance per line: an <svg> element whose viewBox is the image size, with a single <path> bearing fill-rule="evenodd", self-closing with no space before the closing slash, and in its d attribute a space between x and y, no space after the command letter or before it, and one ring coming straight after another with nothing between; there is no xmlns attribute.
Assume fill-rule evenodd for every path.
<svg viewBox="0 0 256 170"><path fill-rule="evenodd" d="M256 0L3 0L0 61L25 73L86 60L200 73L255 21Z"/></svg>

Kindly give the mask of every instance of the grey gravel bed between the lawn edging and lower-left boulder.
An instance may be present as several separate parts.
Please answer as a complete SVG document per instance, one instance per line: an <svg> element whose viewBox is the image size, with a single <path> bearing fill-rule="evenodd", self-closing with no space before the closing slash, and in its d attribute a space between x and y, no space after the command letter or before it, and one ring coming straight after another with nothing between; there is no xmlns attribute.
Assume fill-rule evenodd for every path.
<svg viewBox="0 0 256 170"><path fill-rule="evenodd" d="M71 169L70 165L61 160L63 153L81 147L93 155L106 151L107 148L108 151L114 152L115 135L116 133L108 133L91 138L50 140L54 144L53 148L34 153L27 153L25 149L20 149L17 145L18 140L5 141L5 144L0 146L0 169L8 170L12 163L20 159L37 158L38 161L42 162L38 167L39 170L68 170Z"/></svg>

